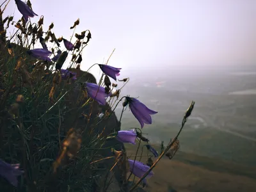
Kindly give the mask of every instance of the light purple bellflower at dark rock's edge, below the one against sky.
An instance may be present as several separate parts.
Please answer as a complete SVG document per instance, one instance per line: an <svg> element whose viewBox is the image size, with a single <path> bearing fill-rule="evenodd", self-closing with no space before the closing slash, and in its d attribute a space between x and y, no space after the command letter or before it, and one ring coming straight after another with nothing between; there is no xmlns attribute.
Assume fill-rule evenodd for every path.
<svg viewBox="0 0 256 192"><path fill-rule="evenodd" d="M111 93L107 94L105 88L95 83L85 83L88 96L96 100L100 105L106 105L106 97L109 97Z"/></svg>

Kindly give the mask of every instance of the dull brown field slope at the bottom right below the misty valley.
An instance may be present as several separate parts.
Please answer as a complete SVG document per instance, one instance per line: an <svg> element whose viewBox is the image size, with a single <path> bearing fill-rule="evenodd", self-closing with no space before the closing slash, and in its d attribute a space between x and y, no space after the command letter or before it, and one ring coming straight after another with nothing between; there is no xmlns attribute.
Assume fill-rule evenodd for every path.
<svg viewBox="0 0 256 192"><path fill-rule="evenodd" d="M136 153L133 145L126 147L128 155ZM141 161L145 163L147 159L143 157ZM179 151L172 161L167 157L159 161L144 191L170 192L171 189L179 192L256 191L256 167Z"/></svg>

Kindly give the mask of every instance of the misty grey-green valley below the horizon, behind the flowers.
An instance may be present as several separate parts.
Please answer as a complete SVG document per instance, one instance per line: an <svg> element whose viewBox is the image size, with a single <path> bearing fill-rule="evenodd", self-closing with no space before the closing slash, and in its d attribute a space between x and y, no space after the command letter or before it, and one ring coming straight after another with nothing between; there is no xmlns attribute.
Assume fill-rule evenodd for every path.
<svg viewBox="0 0 256 192"><path fill-rule="evenodd" d="M255 72L254 66L239 66L173 68L171 76L159 71L144 79L134 73L124 92L140 96L150 108L159 111L153 117L154 124L143 129L153 142L170 141L193 99L196 108L180 136L180 150L256 166ZM127 113L122 129L129 126L138 127L138 123Z"/></svg>

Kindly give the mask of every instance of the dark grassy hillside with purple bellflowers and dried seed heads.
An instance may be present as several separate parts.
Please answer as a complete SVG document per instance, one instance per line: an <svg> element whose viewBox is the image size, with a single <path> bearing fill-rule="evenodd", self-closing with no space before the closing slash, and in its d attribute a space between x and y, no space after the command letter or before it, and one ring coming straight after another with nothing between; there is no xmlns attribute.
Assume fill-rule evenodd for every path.
<svg viewBox="0 0 256 192"><path fill-rule="evenodd" d="M159 155L141 131L145 124L152 124L152 115L157 111L149 109L138 98L119 99L129 81L128 77L116 79L122 68L108 62L92 65L102 70L99 83L88 71L80 70L81 52L92 38L90 31L76 33L75 41L63 36L57 38L52 31L53 23L44 31L44 16L37 24L31 23L30 19L38 15L30 1L15 0L15 3L22 15L18 22L9 16L3 19L4 10L0 7L0 183L5 182L3 190L12 189L9 183L28 191L67 191L67 188L90 191L95 185L106 191L108 173L115 168L120 170L115 172L115 177L122 178L118 181L120 189L132 191L140 182L145 186L146 179L154 175L152 169L159 159L163 155L172 159L177 152L179 134ZM70 29L76 29L79 23L77 19ZM7 37L10 24L15 24L17 29L13 36ZM69 54L70 65L63 68ZM121 88L116 80L122 82ZM123 109L118 121L114 111L120 102ZM184 115L182 127L194 104L192 102ZM138 120L140 129L120 130L127 107ZM145 142L143 147L150 153L145 163L141 157L136 160L138 150L134 159L127 157L124 143L136 145L136 141L138 148ZM99 162L111 157L115 158L104 172L107 173L105 184L101 186L102 183L97 184L102 166ZM107 163L103 164L106 168ZM131 174L139 180L129 188ZM19 182L20 176L22 182Z"/></svg>

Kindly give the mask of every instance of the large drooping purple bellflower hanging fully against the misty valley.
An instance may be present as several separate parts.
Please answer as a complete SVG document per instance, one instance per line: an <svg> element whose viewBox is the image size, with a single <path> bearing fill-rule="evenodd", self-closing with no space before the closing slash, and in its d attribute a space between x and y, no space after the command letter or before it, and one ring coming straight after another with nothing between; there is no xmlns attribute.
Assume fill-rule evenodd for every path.
<svg viewBox="0 0 256 192"><path fill-rule="evenodd" d="M125 97L125 102L126 104L129 104L132 114L140 122L141 129L143 128L144 124L152 124L152 118L150 115L158 113L157 111L148 109L145 104L133 97Z"/></svg>

